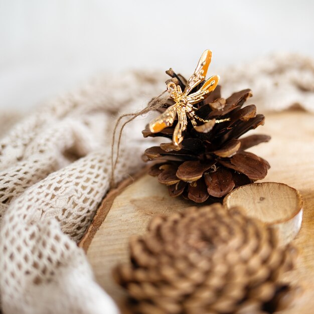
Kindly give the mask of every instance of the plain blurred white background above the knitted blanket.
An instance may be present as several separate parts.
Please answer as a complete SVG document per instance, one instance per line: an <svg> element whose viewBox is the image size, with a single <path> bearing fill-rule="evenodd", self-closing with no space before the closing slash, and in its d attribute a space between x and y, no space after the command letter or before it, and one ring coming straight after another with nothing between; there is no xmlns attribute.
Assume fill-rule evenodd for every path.
<svg viewBox="0 0 314 314"><path fill-rule="evenodd" d="M101 72L191 73L275 51L314 58L310 0L0 0L0 109L28 109Z"/></svg>

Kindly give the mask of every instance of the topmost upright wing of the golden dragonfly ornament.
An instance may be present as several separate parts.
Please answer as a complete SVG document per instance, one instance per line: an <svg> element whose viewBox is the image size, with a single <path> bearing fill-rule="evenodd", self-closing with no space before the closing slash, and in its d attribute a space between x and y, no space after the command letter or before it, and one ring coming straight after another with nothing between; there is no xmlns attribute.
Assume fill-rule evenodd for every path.
<svg viewBox="0 0 314 314"><path fill-rule="evenodd" d="M207 49L203 52L194 73L187 82L186 88L183 93L184 96L188 95L195 86L200 84L205 79L211 60L212 52L211 50Z"/></svg>

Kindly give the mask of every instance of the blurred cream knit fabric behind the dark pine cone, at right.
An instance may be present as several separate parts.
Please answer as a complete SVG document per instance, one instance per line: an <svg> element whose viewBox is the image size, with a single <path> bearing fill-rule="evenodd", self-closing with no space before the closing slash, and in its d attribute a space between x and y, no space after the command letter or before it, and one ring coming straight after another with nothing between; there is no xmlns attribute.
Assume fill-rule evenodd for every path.
<svg viewBox="0 0 314 314"><path fill-rule="evenodd" d="M259 110L280 111L298 105L314 112L314 60L276 53L219 72L223 96L250 88Z"/></svg>

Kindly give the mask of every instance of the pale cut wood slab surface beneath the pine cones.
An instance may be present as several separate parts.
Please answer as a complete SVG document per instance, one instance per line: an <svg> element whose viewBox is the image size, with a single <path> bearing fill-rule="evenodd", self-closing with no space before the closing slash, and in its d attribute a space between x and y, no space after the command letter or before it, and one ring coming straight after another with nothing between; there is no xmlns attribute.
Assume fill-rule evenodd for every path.
<svg viewBox="0 0 314 314"><path fill-rule="evenodd" d="M252 133L272 137L270 142L249 149L271 165L263 181L287 184L303 198L303 222L292 242L299 257L295 270L283 278L299 285L301 292L293 306L282 313L310 314L314 308L314 115L298 110L268 114L265 125ZM90 230L81 246L99 284L123 308L126 294L113 281L111 271L117 263L127 261L129 236L143 234L154 215L181 211L195 203L171 198L167 188L148 175L117 192L114 200L105 199L95 217L96 232ZM108 207L109 202L112 205Z"/></svg>

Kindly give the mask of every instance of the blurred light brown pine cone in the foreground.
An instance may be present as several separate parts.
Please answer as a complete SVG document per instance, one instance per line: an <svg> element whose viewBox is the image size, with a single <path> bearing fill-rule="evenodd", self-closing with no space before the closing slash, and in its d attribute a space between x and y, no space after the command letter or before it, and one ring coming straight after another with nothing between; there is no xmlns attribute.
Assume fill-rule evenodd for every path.
<svg viewBox="0 0 314 314"><path fill-rule="evenodd" d="M217 203L155 217L129 245L131 263L114 277L134 313L272 313L292 299L278 277L293 267L295 250L238 208Z"/></svg>

